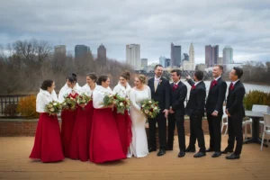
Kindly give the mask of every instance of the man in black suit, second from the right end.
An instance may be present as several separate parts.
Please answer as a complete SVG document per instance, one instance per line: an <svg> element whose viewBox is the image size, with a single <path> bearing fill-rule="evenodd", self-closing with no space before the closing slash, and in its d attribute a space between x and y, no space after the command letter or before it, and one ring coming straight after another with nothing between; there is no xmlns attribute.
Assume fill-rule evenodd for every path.
<svg viewBox="0 0 270 180"><path fill-rule="evenodd" d="M226 95L227 84L221 78L223 67L216 65L212 69L214 80L211 81L211 86L206 101L207 121L210 134L210 148L206 152L214 151L211 157L220 157L221 146L221 121L223 115L223 102Z"/></svg>

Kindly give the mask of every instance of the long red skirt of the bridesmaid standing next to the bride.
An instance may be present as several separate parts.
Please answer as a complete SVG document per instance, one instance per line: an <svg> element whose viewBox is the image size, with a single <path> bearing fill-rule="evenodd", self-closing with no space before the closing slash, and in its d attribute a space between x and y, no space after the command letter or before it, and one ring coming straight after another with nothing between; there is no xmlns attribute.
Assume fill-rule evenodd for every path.
<svg viewBox="0 0 270 180"><path fill-rule="evenodd" d="M121 140L121 148L125 155L128 154L128 149L130 148L130 143L132 140L132 131L131 131L131 120L128 111L125 111L124 114L116 113L114 111L115 120Z"/></svg>

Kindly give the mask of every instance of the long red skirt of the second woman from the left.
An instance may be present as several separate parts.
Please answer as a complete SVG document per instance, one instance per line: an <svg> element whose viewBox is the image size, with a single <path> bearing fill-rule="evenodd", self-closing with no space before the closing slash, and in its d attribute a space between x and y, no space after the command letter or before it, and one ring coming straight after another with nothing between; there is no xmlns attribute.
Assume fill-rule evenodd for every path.
<svg viewBox="0 0 270 180"><path fill-rule="evenodd" d="M76 121L76 111L63 111L61 113L61 137L65 157L69 157L69 144L72 137L74 124Z"/></svg>

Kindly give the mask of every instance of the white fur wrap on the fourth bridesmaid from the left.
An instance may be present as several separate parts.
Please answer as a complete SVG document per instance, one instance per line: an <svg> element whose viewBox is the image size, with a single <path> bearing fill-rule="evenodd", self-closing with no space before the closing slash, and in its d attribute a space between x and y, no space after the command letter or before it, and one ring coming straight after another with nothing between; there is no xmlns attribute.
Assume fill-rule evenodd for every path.
<svg viewBox="0 0 270 180"><path fill-rule="evenodd" d="M106 94L112 94L110 87L104 88L102 85L96 85L93 91L93 106L95 109L103 108L103 99Z"/></svg>

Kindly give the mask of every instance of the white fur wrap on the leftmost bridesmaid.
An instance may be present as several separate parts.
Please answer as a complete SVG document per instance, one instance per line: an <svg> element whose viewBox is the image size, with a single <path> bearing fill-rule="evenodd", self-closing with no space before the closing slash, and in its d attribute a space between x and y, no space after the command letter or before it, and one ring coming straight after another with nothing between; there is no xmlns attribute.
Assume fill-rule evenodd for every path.
<svg viewBox="0 0 270 180"><path fill-rule="evenodd" d="M58 101L58 96L55 91L53 90L51 94L49 94L49 91L40 89L36 100L36 112L45 112L45 106L52 101Z"/></svg>

